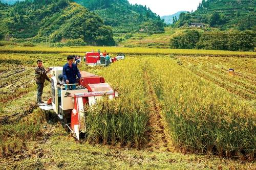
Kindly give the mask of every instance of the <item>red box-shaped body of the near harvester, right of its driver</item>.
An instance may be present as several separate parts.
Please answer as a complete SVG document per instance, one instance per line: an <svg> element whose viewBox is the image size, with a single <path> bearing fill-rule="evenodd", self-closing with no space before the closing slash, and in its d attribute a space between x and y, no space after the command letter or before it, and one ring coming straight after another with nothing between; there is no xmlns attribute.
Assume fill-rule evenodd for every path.
<svg viewBox="0 0 256 170"><path fill-rule="evenodd" d="M105 83L103 77L93 75L90 72L81 71L80 72L82 79L80 80L80 85L88 88L89 84L98 84L98 83Z"/></svg>

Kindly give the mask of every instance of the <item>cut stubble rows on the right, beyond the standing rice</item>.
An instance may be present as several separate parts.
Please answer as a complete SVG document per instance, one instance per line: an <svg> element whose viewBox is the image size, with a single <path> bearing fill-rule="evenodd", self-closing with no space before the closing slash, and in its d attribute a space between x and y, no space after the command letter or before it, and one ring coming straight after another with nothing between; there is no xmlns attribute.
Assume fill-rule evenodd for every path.
<svg viewBox="0 0 256 170"><path fill-rule="evenodd" d="M179 57L183 66L246 100L256 100L256 61L253 58ZM241 64L242 63L242 64ZM234 76L228 69L235 70Z"/></svg>

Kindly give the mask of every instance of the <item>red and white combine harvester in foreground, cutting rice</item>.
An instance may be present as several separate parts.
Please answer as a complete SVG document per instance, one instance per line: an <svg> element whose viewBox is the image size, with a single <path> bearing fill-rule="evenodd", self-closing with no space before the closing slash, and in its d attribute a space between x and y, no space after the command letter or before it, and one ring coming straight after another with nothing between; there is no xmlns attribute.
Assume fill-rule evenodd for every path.
<svg viewBox="0 0 256 170"><path fill-rule="evenodd" d="M81 71L81 79L77 80L75 90L66 90L66 85L59 83L59 75L62 75L62 67L52 67L50 71L52 97L47 105L39 106L42 110L54 110L58 117L69 127L73 136L79 140L80 134L86 133L84 119L84 106L95 105L104 96L110 100L118 94L114 92L103 77Z"/></svg>

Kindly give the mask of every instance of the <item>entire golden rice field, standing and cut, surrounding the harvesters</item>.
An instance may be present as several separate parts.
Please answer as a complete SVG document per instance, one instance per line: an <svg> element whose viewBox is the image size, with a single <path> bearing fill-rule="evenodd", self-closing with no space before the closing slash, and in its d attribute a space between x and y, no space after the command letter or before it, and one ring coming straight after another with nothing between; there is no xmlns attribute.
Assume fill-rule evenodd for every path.
<svg viewBox="0 0 256 170"><path fill-rule="evenodd" d="M36 109L33 68L37 59L42 59L45 67L62 66L67 55L83 55L98 48L106 49L113 56L124 53L126 58L109 67L91 68L82 62L79 69L103 76L119 93L119 98L87 108L84 114L88 131L84 141L78 144L68 132L63 132L65 129L60 123L47 118L49 115L54 117L54 113ZM84 150L82 145L89 147L88 144L91 144L94 150L106 145L121 149L123 154L126 149L134 154L145 152L156 162L161 160L161 154L167 153L169 156L163 158L169 157L172 160L167 162L180 166L180 169L193 169L193 166L189 165L189 161L180 164L182 160L172 157L175 153L180 153L180 158L191 154L183 162L194 157L193 154L196 154L197 160L210 155L212 160L209 161L214 162L213 165L204 162L205 165L198 167L200 169L218 169L219 165L223 169L255 168L255 56L254 52L153 48L1 47L0 166L4 159L9 162L11 157L16 159L17 155L32 152L33 143L48 153L57 152L60 155L58 143L68 148L70 146L66 144L70 143L73 147L69 148L71 155L74 154L69 158L70 164L78 153L81 156L80 151L77 154L73 151L76 145L79 150ZM229 68L235 70L234 76L228 74ZM49 96L50 84L46 83L43 98L46 100ZM49 148L54 149L49 150L47 145L41 143L48 143ZM51 164L47 152L42 152L44 156L37 160L32 156L17 159L20 163L41 160L40 167L46 167L46 164ZM121 153L119 156L117 161L126 161L122 160L124 156ZM229 158L233 160L228 163L222 161ZM208 160L208 157L205 159ZM136 167L161 169L171 166L165 163L160 161L151 166L144 162ZM22 167L16 163L3 164L9 167L7 169ZM51 164L46 169L71 168L65 163L58 166ZM39 165L35 163L31 168L26 167L34 169ZM120 166L115 167L118 169ZM132 168L133 165L128 163L127 167Z"/></svg>

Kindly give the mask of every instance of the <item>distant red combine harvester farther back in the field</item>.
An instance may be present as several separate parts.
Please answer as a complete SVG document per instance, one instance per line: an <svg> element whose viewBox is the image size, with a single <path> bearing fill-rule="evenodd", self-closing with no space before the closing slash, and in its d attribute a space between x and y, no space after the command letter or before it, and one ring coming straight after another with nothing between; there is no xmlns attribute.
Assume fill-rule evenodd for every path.
<svg viewBox="0 0 256 170"><path fill-rule="evenodd" d="M124 54L118 54L117 57L111 58L110 63L114 63L118 60L123 60L125 58ZM86 64L88 66L106 66L106 59L104 56L100 56L99 53L86 53Z"/></svg>

